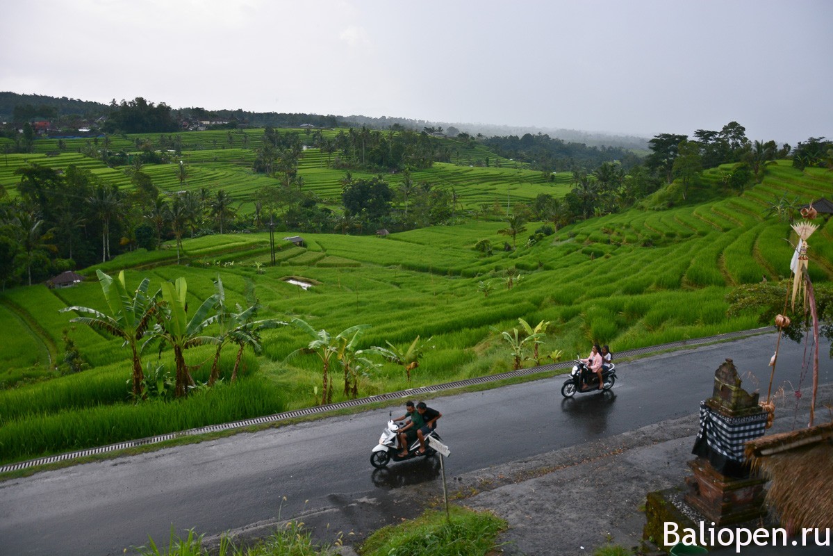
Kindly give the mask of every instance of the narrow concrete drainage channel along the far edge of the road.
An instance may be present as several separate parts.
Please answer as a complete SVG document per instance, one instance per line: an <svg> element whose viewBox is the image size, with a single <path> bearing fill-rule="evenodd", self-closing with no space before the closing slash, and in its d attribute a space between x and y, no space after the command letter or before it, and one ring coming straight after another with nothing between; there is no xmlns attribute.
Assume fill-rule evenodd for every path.
<svg viewBox="0 0 833 556"><path fill-rule="evenodd" d="M707 338L694 338L688 340L681 340L677 342L669 342L669 343L662 343L656 346L649 346L646 348L636 348L631 349L628 351L617 352L616 353L616 360L621 361L622 359L628 358L638 358L640 356L644 356L649 353L663 353L669 350L678 349L678 348L691 348L700 345L710 344L710 343L720 343L724 341L734 340L738 338L746 338L749 336L754 336L756 334L767 333L771 332L771 327L765 328L755 328L752 330L741 330L739 332L731 332L725 334L717 334L716 336L709 336ZM35 467L37 465L45 465L48 463L57 463L61 461L66 461L75 458L83 458L86 456L94 455L97 453L108 453L114 452L117 450L122 450L125 448L135 448L137 446L145 446L147 444L154 444L159 443L165 440L171 440L172 438L179 438L183 436L195 436L199 434L205 433L213 433L217 431L226 431L232 430L235 428L246 428L251 427L252 425L259 425L259 424L266 424L266 423L278 423L281 421L285 421L287 419L298 418L298 417L308 417L310 415L317 415L321 413L328 413L330 411L336 409L343 409L343 408L355 408L362 405L367 405L370 403L377 403L377 402L384 402L384 401L391 401L395 399L402 399L402 398L417 398L421 394L426 393L437 393L443 392L446 390L452 390L454 388L463 388L466 386L472 386L475 384L483 384L483 383L490 383L496 382L499 380L505 380L507 378L517 378L528 376L532 374L538 373L548 373L551 371L556 371L563 368L569 368L573 364L573 361L565 361L561 363L551 363L548 365L541 365L538 367L530 367L530 368L521 368L516 371L509 371L507 373L500 373L500 374L491 374L483 377L477 378L467 378L466 380L459 380L453 383L444 383L444 384L435 384L432 386L425 386L422 388L410 388L407 390L400 390L398 392L392 393L384 393L379 394L377 396L370 396L369 398L358 398L352 399L347 402L339 402L339 403L330 403L327 405L316 406L314 408L303 408L297 409L294 411L287 411L284 413L274 413L272 415L265 415L263 417L257 418L250 418L250 419L243 419L242 421L234 421L232 423L221 423L210 425L207 427L200 427L200 428L191 428L185 431L180 431L177 433L167 433L167 434L160 434L157 436L153 436L150 438L138 438L136 440L129 440L127 442L120 442L109 444L107 446L100 446L97 448L87 448L83 450L77 450L76 452L67 452L67 453L60 453L54 456L47 456L44 458L35 458L30 459L23 462L17 463L9 463L7 465L0 466L0 473L7 473L10 471L17 471L19 469L25 469L30 467Z"/></svg>

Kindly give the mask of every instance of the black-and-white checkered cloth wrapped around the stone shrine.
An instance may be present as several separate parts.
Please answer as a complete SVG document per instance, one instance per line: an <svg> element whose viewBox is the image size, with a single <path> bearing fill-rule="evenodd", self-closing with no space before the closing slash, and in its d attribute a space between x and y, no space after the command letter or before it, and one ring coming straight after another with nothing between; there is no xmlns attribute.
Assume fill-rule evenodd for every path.
<svg viewBox="0 0 833 556"><path fill-rule="evenodd" d="M746 417L726 417L713 411L706 402L700 403L700 430L697 440L705 440L709 448L738 463L744 461L743 448L750 440L766 431L766 412Z"/></svg>

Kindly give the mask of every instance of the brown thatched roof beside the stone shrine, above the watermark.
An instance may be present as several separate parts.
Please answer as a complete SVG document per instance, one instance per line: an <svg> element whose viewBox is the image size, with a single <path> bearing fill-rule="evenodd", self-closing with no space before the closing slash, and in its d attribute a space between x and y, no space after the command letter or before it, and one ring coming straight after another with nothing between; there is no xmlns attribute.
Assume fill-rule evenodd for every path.
<svg viewBox="0 0 833 556"><path fill-rule="evenodd" d="M756 438L746 458L770 479L766 503L785 527L833 528L833 423Z"/></svg>

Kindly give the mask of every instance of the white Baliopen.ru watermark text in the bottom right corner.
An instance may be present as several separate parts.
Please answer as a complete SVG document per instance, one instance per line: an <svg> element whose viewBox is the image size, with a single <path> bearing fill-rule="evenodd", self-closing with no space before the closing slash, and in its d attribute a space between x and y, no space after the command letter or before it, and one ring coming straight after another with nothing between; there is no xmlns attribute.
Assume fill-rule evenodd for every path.
<svg viewBox="0 0 833 556"><path fill-rule="evenodd" d="M664 523L664 544L673 546L676 543L696 544L698 546L734 546L736 552L747 546L831 546L831 530L829 528L803 528L787 538L784 528L715 528L706 527L700 522L699 528L684 527L674 522Z"/></svg>

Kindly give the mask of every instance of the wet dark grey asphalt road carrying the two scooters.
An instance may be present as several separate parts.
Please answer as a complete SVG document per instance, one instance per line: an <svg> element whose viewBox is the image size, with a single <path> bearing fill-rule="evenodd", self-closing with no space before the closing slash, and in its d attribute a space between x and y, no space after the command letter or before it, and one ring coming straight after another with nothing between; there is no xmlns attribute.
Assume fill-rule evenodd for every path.
<svg viewBox="0 0 833 556"><path fill-rule="evenodd" d="M775 343L766 334L621 363L607 394L565 400L565 378L555 377L432 399L451 448L446 476L696 413L726 358L741 376L754 373L760 384L746 377L743 386L766 398ZM833 382L829 350L822 343L821 383ZM803 346L782 341L773 390L785 381L798 387L803 356ZM805 395L810 388L808 372ZM403 413L402 406L392 409ZM384 507L409 483L436 481L441 488L436 458L374 471L371 448L387 418L387 409L377 409L0 483L2 553L122 554L148 535L167 543L172 527L211 535L311 513L366 534L378 525L358 511L363 502ZM393 502L386 511L408 515Z"/></svg>

